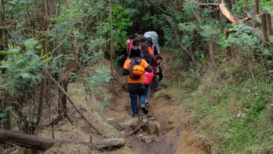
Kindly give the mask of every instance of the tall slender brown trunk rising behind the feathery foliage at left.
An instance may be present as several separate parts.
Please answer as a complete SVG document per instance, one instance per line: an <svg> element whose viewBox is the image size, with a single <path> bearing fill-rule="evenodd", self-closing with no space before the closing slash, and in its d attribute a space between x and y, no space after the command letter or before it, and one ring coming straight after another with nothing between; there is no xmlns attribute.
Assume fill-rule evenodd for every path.
<svg viewBox="0 0 273 154"><path fill-rule="evenodd" d="M47 0L42 0L43 6L43 27L47 27ZM46 29L45 29L46 30ZM46 31L44 31L46 33ZM44 34L43 36L43 55L47 54L47 35ZM41 86L40 86L40 98L39 98L39 108L38 108L38 118L37 124L38 127L40 122L43 120L43 111L44 111L44 101L45 101L45 90L46 90L46 75L47 70L43 70L43 78L41 79Z"/></svg>

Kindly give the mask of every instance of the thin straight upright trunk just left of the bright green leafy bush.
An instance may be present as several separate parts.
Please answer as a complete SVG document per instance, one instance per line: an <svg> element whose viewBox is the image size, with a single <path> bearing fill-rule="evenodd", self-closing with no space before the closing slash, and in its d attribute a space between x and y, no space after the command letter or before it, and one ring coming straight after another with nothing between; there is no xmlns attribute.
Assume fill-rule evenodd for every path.
<svg viewBox="0 0 273 154"><path fill-rule="evenodd" d="M112 17L112 0L109 0L110 7L110 60L111 60L111 76L114 77L114 60L113 60L113 52L114 52L114 44L113 44L113 17Z"/></svg>

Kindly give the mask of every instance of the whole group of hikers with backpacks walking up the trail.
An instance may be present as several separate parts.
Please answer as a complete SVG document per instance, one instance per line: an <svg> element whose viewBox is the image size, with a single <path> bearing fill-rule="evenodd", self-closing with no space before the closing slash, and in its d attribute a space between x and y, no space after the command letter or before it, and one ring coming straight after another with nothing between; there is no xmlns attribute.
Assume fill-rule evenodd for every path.
<svg viewBox="0 0 273 154"><path fill-rule="evenodd" d="M123 66L123 75L128 75L128 90L131 99L133 117L138 117L137 96L139 107L144 114L148 114L147 106L150 102L151 89L157 91L158 81L163 79L160 66L162 58L156 32L132 34L126 42L128 59ZM159 80L157 80L159 75Z"/></svg>

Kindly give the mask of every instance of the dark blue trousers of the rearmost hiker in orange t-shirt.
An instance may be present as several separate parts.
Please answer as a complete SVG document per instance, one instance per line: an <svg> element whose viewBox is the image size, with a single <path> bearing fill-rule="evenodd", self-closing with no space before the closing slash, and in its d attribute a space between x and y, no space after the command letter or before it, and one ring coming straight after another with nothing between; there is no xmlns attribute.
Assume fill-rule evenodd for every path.
<svg viewBox="0 0 273 154"><path fill-rule="evenodd" d="M145 84L143 83L128 83L128 89L131 99L131 107L133 116L138 115L137 95L139 97L139 105L145 105Z"/></svg>

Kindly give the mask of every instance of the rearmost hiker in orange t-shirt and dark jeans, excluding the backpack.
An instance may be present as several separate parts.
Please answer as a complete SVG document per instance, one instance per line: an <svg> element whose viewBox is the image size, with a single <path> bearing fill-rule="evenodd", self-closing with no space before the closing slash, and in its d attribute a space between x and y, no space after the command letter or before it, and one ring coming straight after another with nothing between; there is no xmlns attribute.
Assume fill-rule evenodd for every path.
<svg viewBox="0 0 273 154"><path fill-rule="evenodd" d="M131 107L133 111L133 117L138 116L138 107L137 107L137 95L139 97L139 106L144 114L148 114L148 109L145 106L145 84L144 84L144 75L141 75L138 79L132 78L130 74L130 65L131 62L136 59L140 58L140 49L138 46L133 46L131 48L131 54L129 59L127 59L123 66L123 75L128 75L128 90L131 99ZM152 72L152 68L149 64L144 60L141 59L139 63L147 72Z"/></svg>

